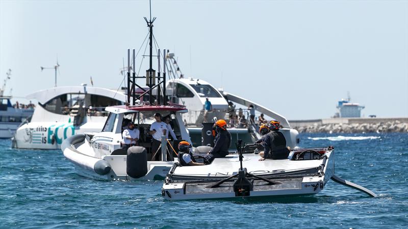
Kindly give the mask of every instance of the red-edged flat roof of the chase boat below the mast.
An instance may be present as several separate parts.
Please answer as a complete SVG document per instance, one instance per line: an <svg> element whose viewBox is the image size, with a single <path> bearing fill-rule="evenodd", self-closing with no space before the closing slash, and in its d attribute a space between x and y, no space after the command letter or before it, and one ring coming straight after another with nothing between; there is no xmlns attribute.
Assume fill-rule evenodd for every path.
<svg viewBox="0 0 408 229"><path fill-rule="evenodd" d="M105 110L112 113L128 113L128 112L139 112L139 111L179 111L182 113L188 112L187 108L184 106L163 106L163 105L118 105L118 106L108 106Z"/></svg>

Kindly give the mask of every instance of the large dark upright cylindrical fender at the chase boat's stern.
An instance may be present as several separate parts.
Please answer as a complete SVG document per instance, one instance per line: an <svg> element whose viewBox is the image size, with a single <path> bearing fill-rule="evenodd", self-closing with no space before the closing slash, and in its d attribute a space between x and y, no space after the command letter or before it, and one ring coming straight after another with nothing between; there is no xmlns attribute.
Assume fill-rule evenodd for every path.
<svg viewBox="0 0 408 229"><path fill-rule="evenodd" d="M127 149L126 174L132 178L141 178L147 174L146 148L134 146Z"/></svg>

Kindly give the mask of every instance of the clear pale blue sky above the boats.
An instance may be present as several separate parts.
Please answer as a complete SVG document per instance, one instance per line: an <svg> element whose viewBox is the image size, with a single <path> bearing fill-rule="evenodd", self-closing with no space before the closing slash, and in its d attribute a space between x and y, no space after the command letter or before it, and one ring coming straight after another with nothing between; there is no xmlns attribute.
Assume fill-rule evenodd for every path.
<svg viewBox="0 0 408 229"><path fill-rule="evenodd" d="M152 1L154 34L186 77L288 120L330 118L347 97L362 115L408 117L408 1ZM15 99L57 84L117 89L139 49L148 1L0 0L0 75ZM137 58L140 63L141 56ZM143 62L142 72L148 68ZM155 63L156 64L156 63Z"/></svg>

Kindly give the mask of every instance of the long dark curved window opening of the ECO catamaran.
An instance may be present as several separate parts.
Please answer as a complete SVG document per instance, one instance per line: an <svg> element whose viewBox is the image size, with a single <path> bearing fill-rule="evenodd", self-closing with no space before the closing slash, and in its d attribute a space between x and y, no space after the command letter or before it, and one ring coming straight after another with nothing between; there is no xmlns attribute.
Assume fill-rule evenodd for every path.
<svg viewBox="0 0 408 229"><path fill-rule="evenodd" d="M89 116L106 116L108 112L105 111L105 107L121 104L121 101L107 96L70 93L50 99L42 106L59 115L72 115L85 106Z"/></svg>

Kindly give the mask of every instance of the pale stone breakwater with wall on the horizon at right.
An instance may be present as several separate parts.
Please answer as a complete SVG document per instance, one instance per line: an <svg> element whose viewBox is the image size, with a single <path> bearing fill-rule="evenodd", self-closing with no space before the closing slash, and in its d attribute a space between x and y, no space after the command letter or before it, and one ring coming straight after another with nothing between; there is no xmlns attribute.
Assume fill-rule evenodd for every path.
<svg viewBox="0 0 408 229"><path fill-rule="evenodd" d="M289 123L299 133L408 132L408 118L333 118Z"/></svg>

